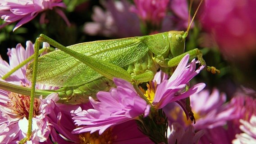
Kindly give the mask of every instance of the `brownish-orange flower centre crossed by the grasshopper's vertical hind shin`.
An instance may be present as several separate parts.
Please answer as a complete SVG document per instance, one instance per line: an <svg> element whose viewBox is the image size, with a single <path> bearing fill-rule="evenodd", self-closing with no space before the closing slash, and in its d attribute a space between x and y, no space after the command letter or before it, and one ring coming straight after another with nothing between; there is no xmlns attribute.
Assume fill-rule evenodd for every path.
<svg viewBox="0 0 256 144"><path fill-rule="evenodd" d="M29 107L30 107L30 97L27 95L9 93L9 98L11 99L7 102L7 105L12 109L12 111L18 115L21 119L26 117L28 119ZM33 117L40 114L40 101L39 99L34 99L34 110Z"/></svg>

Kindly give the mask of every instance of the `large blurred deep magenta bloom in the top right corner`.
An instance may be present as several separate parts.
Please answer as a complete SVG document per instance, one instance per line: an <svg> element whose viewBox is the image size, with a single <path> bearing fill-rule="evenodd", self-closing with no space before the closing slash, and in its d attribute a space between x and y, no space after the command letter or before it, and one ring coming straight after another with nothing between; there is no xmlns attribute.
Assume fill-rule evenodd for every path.
<svg viewBox="0 0 256 144"><path fill-rule="evenodd" d="M255 54L255 5L255 0L205 1L202 27L213 36L225 56L239 59Z"/></svg>

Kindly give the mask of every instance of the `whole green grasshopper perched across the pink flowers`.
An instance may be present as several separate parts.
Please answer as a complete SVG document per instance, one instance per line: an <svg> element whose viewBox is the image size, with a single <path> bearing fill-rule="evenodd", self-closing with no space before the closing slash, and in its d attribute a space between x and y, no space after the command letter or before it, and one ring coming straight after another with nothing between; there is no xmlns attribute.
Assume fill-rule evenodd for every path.
<svg viewBox="0 0 256 144"><path fill-rule="evenodd" d="M185 38L192 21L186 32L168 31L149 36L85 42L67 47L41 34L35 42L35 54L26 60L29 62L34 58L27 67L26 73L27 78L32 81L32 87L27 88L0 81L2 90L31 95L28 133L21 143L25 143L32 135L34 96L46 97L50 93L58 93L60 103L85 103L88 101L88 96L95 97L98 91L107 91L115 86L112 81L114 77L130 81L133 85L148 82L154 78L159 68L177 66L186 54L190 54L190 58L197 57L202 65L206 65L199 49L184 53ZM40 42L47 42L58 50L38 58ZM15 69L17 68L12 72L15 72ZM215 67L207 67L207 70L213 73L219 72ZM3 76L3 79L12 72ZM59 90L35 90L36 82L60 88Z"/></svg>

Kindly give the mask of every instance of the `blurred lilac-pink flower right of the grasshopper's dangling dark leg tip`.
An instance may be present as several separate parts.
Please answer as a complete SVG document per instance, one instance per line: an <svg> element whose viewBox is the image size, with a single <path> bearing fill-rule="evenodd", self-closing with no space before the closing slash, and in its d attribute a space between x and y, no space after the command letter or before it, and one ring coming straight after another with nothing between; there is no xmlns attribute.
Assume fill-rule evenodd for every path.
<svg viewBox="0 0 256 144"><path fill-rule="evenodd" d="M225 104L226 95L213 89L201 91L190 97L192 111L197 115L196 130L224 126L227 121L237 118L234 107Z"/></svg>

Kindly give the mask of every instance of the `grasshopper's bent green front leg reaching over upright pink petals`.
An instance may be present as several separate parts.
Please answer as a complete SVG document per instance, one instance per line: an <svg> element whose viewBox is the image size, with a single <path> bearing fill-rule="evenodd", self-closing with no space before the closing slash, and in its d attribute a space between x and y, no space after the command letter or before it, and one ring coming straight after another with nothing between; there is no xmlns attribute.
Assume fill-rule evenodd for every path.
<svg viewBox="0 0 256 144"><path fill-rule="evenodd" d="M186 55L186 54L189 54L189 58L192 59L192 58L198 58L198 60L200 61L201 65L206 65L206 62L205 60L203 59L203 55L202 55L202 52L199 50L199 49L192 49L186 53L183 53L183 54L180 54L172 59L170 59L168 61L168 66L169 67L174 67L174 66L177 66L178 63L181 61L181 59ZM209 66L206 66L206 70L208 72L211 72L213 74L215 73L220 73L218 69L216 69L215 67L209 67Z"/></svg>

